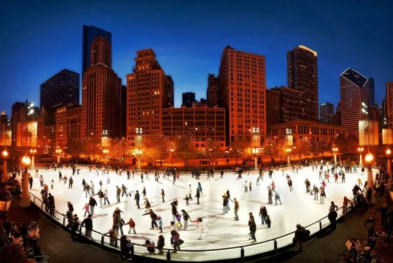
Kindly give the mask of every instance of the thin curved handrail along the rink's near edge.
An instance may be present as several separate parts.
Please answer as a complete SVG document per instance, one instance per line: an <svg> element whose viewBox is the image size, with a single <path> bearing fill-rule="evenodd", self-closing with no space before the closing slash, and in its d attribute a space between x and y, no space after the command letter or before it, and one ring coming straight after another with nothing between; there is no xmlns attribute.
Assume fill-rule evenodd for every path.
<svg viewBox="0 0 393 263"><path fill-rule="evenodd" d="M366 191L366 190L365 190L365 191ZM362 193L364 193L365 191L362 191ZM31 194L34 198L38 199L38 200L41 202L41 204L43 203L43 201L42 201L39 197L35 196L35 195L32 194L32 193L30 193L30 194ZM350 200L350 203L352 203L354 200L355 200L355 198L351 199L351 200ZM348 203L348 204L350 204L350 203ZM339 211L340 209L343 209L343 206L340 206L340 207L336 210L336 212ZM42 209L41 209L41 210L42 210ZM45 211L42 210L42 212L45 212ZM64 221L65 218L67 218L67 217L64 216L63 213L60 213L60 212L58 212L57 210L54 210L54 212L60 214L60 215L63 217L63 221ZM307 228L309 228L309 227L311 227L311 226L313 226L313 225L315 225L315 224L318 224L318 223L320 223L323 219L327 218L328 216L329 216L329 215L326 215L326 216L324 216L324 217L322 217L322 218L316 220L315 222L311 223L310 225L305 226L304 228L307 229ZM85 228L84 226L80 226L80 227L81 227L81 228L82 228L82 227ZM110 236L108 236L108 235L104 235L103 233L98 232L98 231L95 231L95 230L92 230L92 232L97 233L97 234L100 234L100 235L102 235L102 236L110 237ZM182 252L208 252L208 251L222 251L222 250L229 250L229 249L243 249L244 247L250 247L250 246L260 245L260 244L264 244L264 243L271 242L271 241L276 241L277 239L280 239L280 238L283 238L283 237L287 237L287 236L289 236L289 235L292 235L292 234L294 234L295 232L296 232L296 231L292 231L292 232L287 233L287 234L285 234L285 235L281 235L281 236L278 236L278 237L275 237L275 238L272 238L272 239L269 239L269 240L264 240L264 241L261 241L261 242L255 242L255 243L253 243L253 244L248 244L248 245L243 245L243 246L228 247L228 248L217 248L217 249L205 249L205 250L181 250L181 251L182 251ZM120 240L119 238L116 238L116 239L117 239L117 240ZM93 241L95 241L95 240L93 240ZM138 246L138 247L143 247L143 248L144 248L144 246L142 246L142 245L140 245L140 244L137 244L137 243L133 243L133 242L132 242L131 244L133 244L134 246ZM112 246L111 246L111 247L112 247ZM166 248L162 248L162 249L163 249L163 250L166 250L166 251L173 251L173 250L174 250L174 249L166 249Z"/></svg>

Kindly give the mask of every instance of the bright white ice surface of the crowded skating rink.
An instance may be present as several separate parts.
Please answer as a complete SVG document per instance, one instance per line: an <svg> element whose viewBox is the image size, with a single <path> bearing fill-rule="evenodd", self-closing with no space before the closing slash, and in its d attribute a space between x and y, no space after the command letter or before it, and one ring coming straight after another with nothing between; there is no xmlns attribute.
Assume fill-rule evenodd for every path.
<svg viewBox="0 0 393 263"><path fill-rule="evenodd" d="M324 168L324 170L326 170ZM67 175L68 178L72 175L71 169L61 169L62 175ZM29 171L34 177L35 172ZM39 170L39 175L43 175L44 183L49 186L49 193L54 195L56 210L65 214L68 210L67 201L71 201L74 205L74 214L78 214L79 219L83 220L83 206L88 203L89 198L85 197L82 187L82 178L86 180L86 183L90 184L93 181L95 185L95 193L99 189L99 181L102 180L104 185L102 189L108 191L108 199L111 205L95 208L93 216L93 229L104 233L112 227L112 213L116 207L119 207L124 214L122 218L124 221L128 221L129 218L133 218L136 224L137 234L133 232L128 234L128 226L123 227L124 233L127 234L128 238L137 244L142 244L146 239L153 240L157 244L157 237L159 230L150 230L150 217L149 215L142 215L144 213L142 189L146 188L147 198L150 201L151 209L160 215L163 219L163 235L165 237L165 247L172 248L170 246L170 233L169 233L169 222L172 220L171 206L169 205L173 198L179 200L178 211L185 209L190 215L192 220L196 220L197 217L202 217L207 229L208 234L203 240L198 240L200 231L196 223L190 222L189 228L186 231L180 230L180 238L185 242L181 246L182 250L206 250L206 249L217 249L217 248L228 248L236 246L250 245L249 240L249 228L248 228L248 213L252 212L256 225L256 239L257 242L264 240L274 239L276 237L285 235L292 231L295 231L296 224L307 226L320 218L328 215L330 202L334 201L339 207L342 206L343 196L346 195L352 199L352 188L356 183L357 178L361 178L362 182L367 179L367 173L363 176L360 175L360 168L358 168L358 174L346 174L345 183L332 183L334 179L331 177L331 183L326 186L326 199L325 204L321 205L318 201L313 200L314 196L305 193L304 180L308 178L313 185L320 186L321 180L318 179L318 172L312 171L311 167L299 169L298 173L291 173L291 169L286 169L285 175L282 176L281 170L274 170L272 179L268 177L265 172L264 181L260 180L260 186L256 186L256 178L258 172L243 173L243 179L237 179L235 173L225 173L224 179L219 179L220 171L215 171L214 178L206 180L206 175L201 175L199 180L191 178L190 174L180 174L180 178L176 180L175 185L172 184L172 177L169 180L162 178L162 172L160 172L159 182L154 180L154 174L149 174L149 179L144 178L144 183L141 183L140 173L135 173L135 178L127 180L126 172L123 171L122 176L116 175L114 171L110 171L110 184L106 184L107 175L96 175L95 169L89 172L88 168L81 167L80 175L72 176L74 179L73 189L68 188L68 184L64 185L63 182L59 181L58 171L51 170ZM373 171L375 176L376 171ZM290 192L287 184L286 174L289 174L293 181L294 191ZM50 181L54 180L54 189L50 189ZM244 181L252 181L252 191L244 193ZM276 184L276 191L281 195L282 205L267 205L268 202L268 191L267 186L274 180ZM200 198L200 205L196 204L196 198L190 201L190 205L186 206L186 201L183 199L187 193L188 185L191 185L193 189L193 195L197 189L198 181L202 184L203 194ZM327 183L327 182L326 182ZM139 190L141 193L141 209L137 209L134 201L134 195L131 197L122 197L120 203L116 203L116 186L121 187L124 184L128 191ZM165 191L165 203L161 203L160 191ZM233 203L229 201L230 211L229 213L223 214L222 195L229 189L231 199L237 198L239 202L239 221L234 221ZM40 198L41 187L39 179L34 178L33 188L30 192ZM98 196L95 196L97 204L99 204ZM33 200L33 196L32 196ZM274 203L274 196L273 196ZM35 201L35 204L40 206L39 201ZM267 207L268 214L272 220L270 229L266 226L261 225L259 214L259 208L261 205ZM341 214L341 212L340 212ZM56 215L57 219L62 222L62 218ZM329 224L328 219L322 221L322 227ZM319 224L315 224L310 228L311 233L319 230ZM45 234L45 233L42 233ZM120 233L119 233L120 234ZM119 236L120 237L120 236ZM93 233L93 238L100 240L101 236ZM292 242L293 235L277 239L278 247L288 245ZM108 242L108 238L105 238L105 243ZM264 251L273 250L273 241L266 242L264 244L256 244L251 247L245 247L245 256L251 254L257 254ZM144 248L135 247L135 253L147 253ZM187 258L191 255L193 260L207 260L216 258L231 258L238 257L239 249L236 250L224 250L210 253L200 252L188 252ZM160 255L161 256L161 255ZM162 256L161 256L162 257ZM179 260L187 260L184 253L178 253L173 255L172 258ZM197 258L197 259L195 259Z"/></svg>

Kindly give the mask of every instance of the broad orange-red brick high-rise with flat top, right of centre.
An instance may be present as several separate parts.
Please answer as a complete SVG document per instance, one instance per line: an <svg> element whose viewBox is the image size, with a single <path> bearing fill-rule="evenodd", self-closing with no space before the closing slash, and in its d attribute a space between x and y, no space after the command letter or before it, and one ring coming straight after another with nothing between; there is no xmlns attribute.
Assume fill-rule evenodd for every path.
<svg viewBox="0 0 393 263"><path fill-rule="evenodd" d="M259 130L259 144L266 138L265 56L227 46L221 55L220 100L226 109L226 144L236 139L254 142L252 129ZM253 143L254 144L254 143Z"/></svg>

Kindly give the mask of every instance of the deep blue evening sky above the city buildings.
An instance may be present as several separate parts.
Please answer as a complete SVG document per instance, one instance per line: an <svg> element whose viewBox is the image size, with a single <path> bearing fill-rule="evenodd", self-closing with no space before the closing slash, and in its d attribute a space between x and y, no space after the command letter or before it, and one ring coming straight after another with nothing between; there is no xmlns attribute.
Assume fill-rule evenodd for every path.
<svg viewBox="0 0 393 263"><path fill-rule="evenodd" d="M93 2L2 3L0 109L9 113L25 99L38 105L42 82L63 68L81 72L83 25L112 32L113 69L123 84L135 52L154 49L173 77L176 106L182 92L206 96L207 75L217 73L226 45L266 56L268 88L287 85L288 50L317 51L320 103L336 106L348 67L373 75L378 104L393 80L390 0Z"/></svg>

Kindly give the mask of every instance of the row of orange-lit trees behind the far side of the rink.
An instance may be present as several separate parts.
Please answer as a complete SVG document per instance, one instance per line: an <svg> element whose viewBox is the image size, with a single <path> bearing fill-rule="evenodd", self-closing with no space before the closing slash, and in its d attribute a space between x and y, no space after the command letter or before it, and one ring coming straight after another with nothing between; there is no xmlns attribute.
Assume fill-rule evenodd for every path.
<svg viewBox="0 0 393 263"><path fill-rule="evenodd" d="M43 143L45 143L45 141ZM187 166L189 159L199 157L206 158L211 162L214 162L216 158L223 156L223 149L218 141L207 140L203 143L204 149L198 150L194 146L194 138L192 135L179 135L176 136L176 139L170 140L169 137L164 134L157 133L145 138L140 150L143 152L143 159L150 163L156 163L156 161L173 157L175 159L184 160L185 166ZM98 156L102 154L100 144L100 139L92 137L86 137L82 140L70 139L68 141L67 148L64 149L64 153L74 157L79 157L81 154L86 156ZM56 146L54 146L49 140L46 144L43 144L43 146L44 147L41 147L41 150L45 150L45 153L54 154ZM326 139L316 140L315 137L312 137L311 139L300 139L297 141L296 147L292 148L285 143L279 143L277 139L270 137L267 139L264 152L260 153L260 155L285 158L287 155L286 149L292 148L291 154L298 155L300 158L310 154L313 156L323 156L323 153L331 151L333 146L338 147L341 153L355 152L357 148L357 139L352 135L345 138L341 134L338 135L336 139L329 141ZM112 139L109 147L109 155L115 158L121 158L126 155L132 155L134 149L135 146L130 145L129 141L126 139ZM249 154L247 151L249 149L250 143L248 141L236 140L229 151L227 151L226 156L235 158L237 162L237 159L247 157Z"/></svg>

